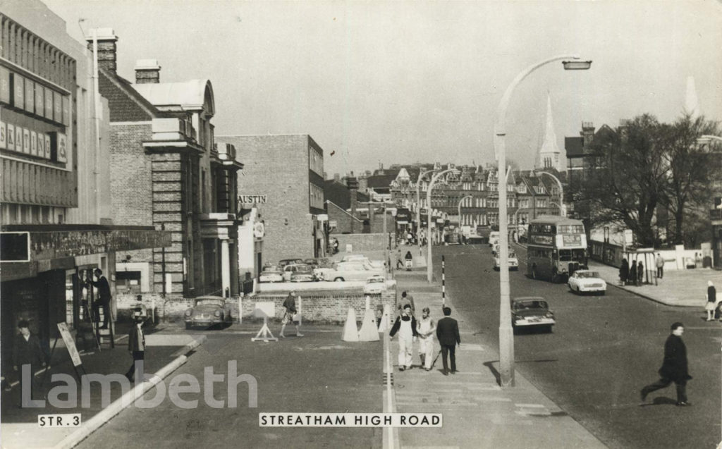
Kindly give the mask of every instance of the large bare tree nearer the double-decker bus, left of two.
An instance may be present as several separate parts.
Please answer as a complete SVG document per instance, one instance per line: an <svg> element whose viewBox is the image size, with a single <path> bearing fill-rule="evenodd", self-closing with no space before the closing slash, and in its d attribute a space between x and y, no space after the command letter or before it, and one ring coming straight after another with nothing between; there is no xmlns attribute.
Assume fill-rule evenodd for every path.
<svg viewBox="0 0 722 449"><path fill-rule="evenodd" d="M666 186L660 126L653 115L639 115L616 133L595 139L580 192L581 199L590 204L593 224L624 223L643 246L655 243L653 219Z"/></svg>

